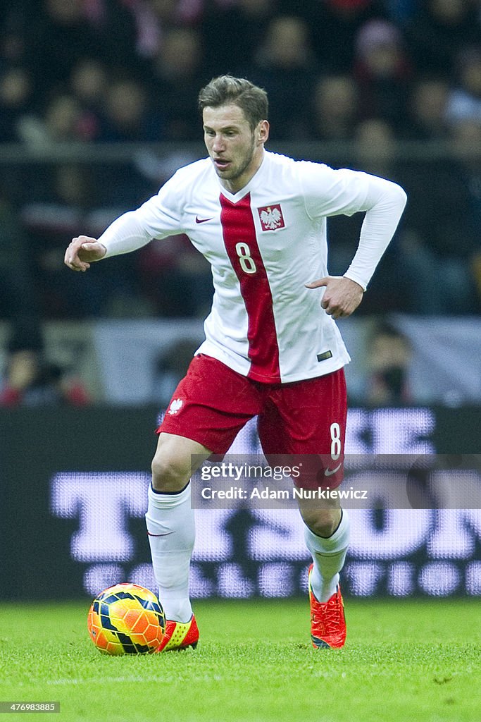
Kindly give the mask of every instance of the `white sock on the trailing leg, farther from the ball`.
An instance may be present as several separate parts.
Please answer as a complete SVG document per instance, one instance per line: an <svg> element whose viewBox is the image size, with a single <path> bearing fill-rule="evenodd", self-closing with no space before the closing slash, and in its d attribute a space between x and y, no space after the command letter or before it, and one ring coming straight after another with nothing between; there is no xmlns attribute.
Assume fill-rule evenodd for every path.
<svg viewBox="0 0 481 722"><path fill-rule="evenodd" d="M314 562L311 586L317 601L327 601L336 591L339 573L348 551L349 529L349 517L345 509L339 526L331 536L317 536L308 526L304 527L304 539Z"/></svg>

